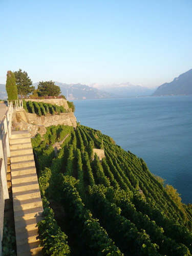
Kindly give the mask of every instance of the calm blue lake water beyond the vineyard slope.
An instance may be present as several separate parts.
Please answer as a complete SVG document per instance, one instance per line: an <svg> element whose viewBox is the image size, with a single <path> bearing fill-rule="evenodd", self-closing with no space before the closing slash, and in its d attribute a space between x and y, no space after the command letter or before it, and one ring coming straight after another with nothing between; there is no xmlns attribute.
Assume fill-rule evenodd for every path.
<svg viewBox="0 0 192 256"><path fill-rule="evenodd" d="M75 100L80 124L142 157L192 203L192 96Z"/></svg>

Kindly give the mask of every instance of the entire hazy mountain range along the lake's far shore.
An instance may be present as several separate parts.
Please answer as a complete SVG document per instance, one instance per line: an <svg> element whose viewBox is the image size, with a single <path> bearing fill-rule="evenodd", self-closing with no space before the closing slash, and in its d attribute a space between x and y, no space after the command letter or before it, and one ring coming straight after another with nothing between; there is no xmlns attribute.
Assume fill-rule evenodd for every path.
<svg viewBox="0 0 192 256"><path fill-rule="evenodd" d="M62 83L55 81L60 87L61 94L69 100L74 99L101 99L101 98L119 98L119 97L139 97L139 96L166 96L166 95L189 95L192 94L192 69L176 77L172 82L163 83L156 88L147 88L134 86L130 82L120 84L98 84L93 83L90 86L80 83ZM38 82L33 83L37 89ZM7 99L5 84L0 84L0 99Z"/></svg>

